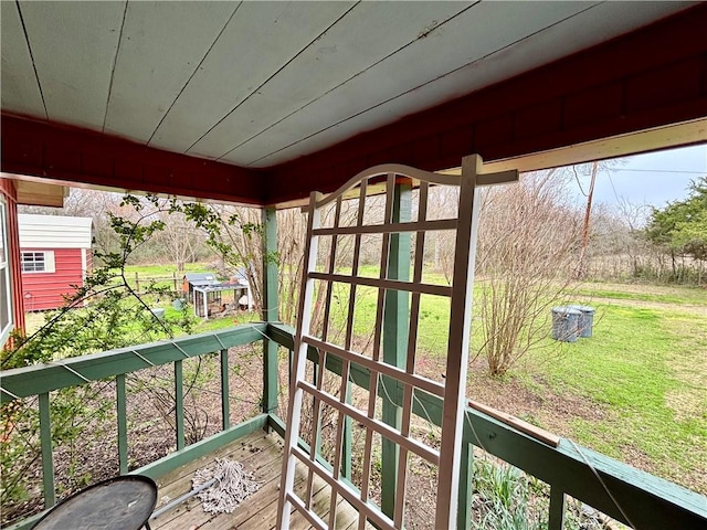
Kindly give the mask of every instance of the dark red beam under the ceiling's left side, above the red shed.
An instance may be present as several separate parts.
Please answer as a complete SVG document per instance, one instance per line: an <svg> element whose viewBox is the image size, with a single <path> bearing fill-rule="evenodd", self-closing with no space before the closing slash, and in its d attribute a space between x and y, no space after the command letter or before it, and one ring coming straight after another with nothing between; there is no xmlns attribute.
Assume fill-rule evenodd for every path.
<svg viewBox="0 0 707 530"><path fill-rule="evenodd" d="M60 124L2 115L2 171L262 204L261 172Z"/></svg>

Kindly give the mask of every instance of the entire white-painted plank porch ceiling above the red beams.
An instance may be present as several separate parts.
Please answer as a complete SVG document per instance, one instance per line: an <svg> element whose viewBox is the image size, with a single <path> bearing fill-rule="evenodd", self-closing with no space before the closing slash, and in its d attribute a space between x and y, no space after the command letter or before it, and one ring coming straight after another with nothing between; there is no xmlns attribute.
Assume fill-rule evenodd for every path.
<svg viewBox="0 0 707 530"><path fill-rule="evenodd" d="M2 1L2 109L270 167L693 3Z"/></svg>

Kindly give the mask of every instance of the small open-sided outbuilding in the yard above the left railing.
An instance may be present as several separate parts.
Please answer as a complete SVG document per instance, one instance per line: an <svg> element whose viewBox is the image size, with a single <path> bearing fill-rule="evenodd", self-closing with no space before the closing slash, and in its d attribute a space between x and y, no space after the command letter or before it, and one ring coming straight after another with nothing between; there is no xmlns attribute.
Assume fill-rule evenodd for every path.
<svg viewBox="0 0 707 530"><path fill-rule="evenodd" d="M240 275L220 282L212 273L188 273L182 290L193 304L197 317L208 319L229 310L253 309L251 286Z"/></svg>

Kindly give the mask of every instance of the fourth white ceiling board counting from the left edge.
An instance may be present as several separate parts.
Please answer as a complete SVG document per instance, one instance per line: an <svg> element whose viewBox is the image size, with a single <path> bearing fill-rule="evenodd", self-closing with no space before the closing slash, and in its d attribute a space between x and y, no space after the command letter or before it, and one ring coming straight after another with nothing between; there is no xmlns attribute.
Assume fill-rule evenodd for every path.
<svg viewBox="0 0 707 530"><path fill-rule="evenodd" d="M354 2L244 2L150 145L183 152Z"/></svg>

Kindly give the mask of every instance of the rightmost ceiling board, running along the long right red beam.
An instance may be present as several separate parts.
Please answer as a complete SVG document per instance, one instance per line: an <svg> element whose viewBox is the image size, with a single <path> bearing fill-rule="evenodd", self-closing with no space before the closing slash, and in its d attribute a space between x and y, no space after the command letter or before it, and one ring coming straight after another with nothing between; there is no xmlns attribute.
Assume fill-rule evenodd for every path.
<svg viewBox="0 0 707 530"><path fill-rule="evenodd" d="M350 119L344 119L323 132L315 132L299 142L257 160L252 166L268 167L326 148L363 130L400 119L409 115L412 109L425 108L430 100L440 97L451 99L463 95L460 92L463 87L473 91L489 86L506 78L508 71L520 73L547 64L559 56L576 53L686 9L690 4L692 2L650 2L643 6L643 9L636 10L632 2L604 2L570 19L568 22L571 23L552 25L483 61L475 62L418 89L407 92L387 102L386 105L352 116ZM551 45L553 43L562 43L562 46ZM334 102L329 104L336 105Z"/></svg>

